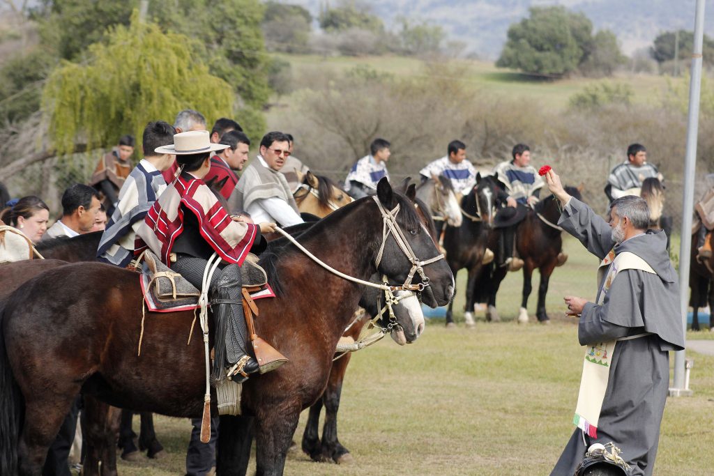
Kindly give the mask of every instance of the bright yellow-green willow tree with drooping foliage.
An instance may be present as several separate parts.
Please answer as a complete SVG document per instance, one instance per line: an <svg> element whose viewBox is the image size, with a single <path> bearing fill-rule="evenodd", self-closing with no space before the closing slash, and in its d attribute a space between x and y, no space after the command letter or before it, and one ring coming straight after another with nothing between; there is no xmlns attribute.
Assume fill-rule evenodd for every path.
<svg viewBox="0 0 714 476"><path fill-rule="evenodd" d="M205 50L180 34L139 21L116 26L89 46L81 64L63 61L49 76L42 111L57 153L77 144L111 146L120 136L141 137L149 121L172 123L186 108L208 118L231 116L233 89L212 76Z"/></svg>

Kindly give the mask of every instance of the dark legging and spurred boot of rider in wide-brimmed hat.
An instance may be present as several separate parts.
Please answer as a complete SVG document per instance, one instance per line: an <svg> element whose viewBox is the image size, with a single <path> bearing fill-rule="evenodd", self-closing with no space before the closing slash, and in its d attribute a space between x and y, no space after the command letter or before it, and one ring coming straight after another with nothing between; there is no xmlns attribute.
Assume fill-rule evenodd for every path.
<svg viewBox="0 0 714 476"><path fill-rule="evenodd" d="M213 321L216 325L212 378L219 382L228 378L241 383L258 372L258 362L248 354L248 330L243 315L241 270L231 264L223 268L218 277L211 300Z"/></svg>

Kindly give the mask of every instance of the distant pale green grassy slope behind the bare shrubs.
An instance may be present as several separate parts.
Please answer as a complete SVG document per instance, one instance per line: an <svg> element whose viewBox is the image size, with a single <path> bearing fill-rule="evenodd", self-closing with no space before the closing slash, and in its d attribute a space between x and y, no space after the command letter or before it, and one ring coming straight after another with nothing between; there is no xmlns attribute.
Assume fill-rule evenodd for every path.
<svg viewBox="0 0 714 476"><path fill-rule="evenodd" d="M318 55L278 55L289 61L294 76L304 71L347 71L357 65L368 65L377 71L395 76L418 76L423 73L423 61L399 56L318 56ZM574 77L551 81L535 76L520 74L508 69L496 68L491 62L476 60L454 60L454 65L464 69L462 76L455 81L466 81L483 91L501 93L508 96L521 96L543 100L548 107L563 108L568 105L570 96L583 91L588 84L600 79ZM448 74L448 73L445 73ZM625 83L633 88L636 103L659 103L661 91L667 86L664 76L648 74L616 74L609 81Z"/></svg>

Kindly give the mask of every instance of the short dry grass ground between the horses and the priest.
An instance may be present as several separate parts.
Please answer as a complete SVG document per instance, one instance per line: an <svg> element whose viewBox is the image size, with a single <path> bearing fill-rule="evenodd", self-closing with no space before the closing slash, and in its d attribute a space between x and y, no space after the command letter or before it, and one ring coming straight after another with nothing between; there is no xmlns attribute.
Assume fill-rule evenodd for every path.
<svg viewBox="0 0 714 476"><path fill-rule="evenodd" d="M566 293L593 297L596 259L566 240L570 260L555 270L548 295L552 325L516 324L520 274L499 295L501 323L446 329L431 320L413 345L383 340L353 356L342 393L340 440L355 462L337 466L288 455L288 475L547 475L573 432L583 350ZM463 283L463 274L459 282ZM455 310L461 320L461 293ZM531 313L535 299L531 298ZM711 338L709 333L688 338ZM668 400L655 475L710 475L714 357L695 358L693 397ZM303 414L298 434L304 428ZM123 475L184 470L190 425L159 417L165 460L120 462Z"/></svg>

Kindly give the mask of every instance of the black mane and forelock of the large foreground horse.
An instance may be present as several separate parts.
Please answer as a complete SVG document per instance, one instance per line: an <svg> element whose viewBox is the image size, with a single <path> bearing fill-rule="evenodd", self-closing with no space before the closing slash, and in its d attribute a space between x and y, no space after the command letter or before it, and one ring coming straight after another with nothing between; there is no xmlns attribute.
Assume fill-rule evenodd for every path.
<svg viewBox="0 0 714 476"><path fill-rule="evenodd" d="M403 226L405 226L407 229L418 229L419 227L421 227L421 220L417 216L416 210L414 209L414 206L411 201L406 198L406 196L403 196L401 193L398 193L396 191L393 191L392 196L393 203L391 208L394 208L395 206L399 205L397 221L403 223ZM373 198L371 197L360 198L359 200L353 201L352 203L348 203L346 206L343 206L342 208L333 211L333 213L330 213L321 221L312 223L311 226L304 227L303 224L299 224L286 228L286 231L288 231L289 233L291 230L299 230L304 227L304 231L302 231L299 236L300 238L307 240L312 236L316 235L317 233L320 233L323 227L329 228L329 226L331 225L331 221L340 219L344 213L351 211L352 208L356 206L361 206L361 203L365 203L366 201L372 200ZM266 272L266 275L268 277L268 283L271 285L273 292L278 296L283 295L283 285L281 282L281 277L278 274L278 261L283 258L286 258L286 256L291 253L303 252L301 250L298 250L298 248L294 247L287 238L282 237L278 238L277 240L272 240L268 242L268 248L266 248L266 250L261 253L260 260L258 261L258 265L260 265L261 268L263 268L263 270L265 270Z"/></svg>

